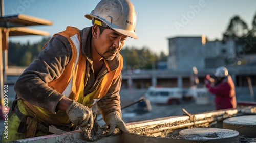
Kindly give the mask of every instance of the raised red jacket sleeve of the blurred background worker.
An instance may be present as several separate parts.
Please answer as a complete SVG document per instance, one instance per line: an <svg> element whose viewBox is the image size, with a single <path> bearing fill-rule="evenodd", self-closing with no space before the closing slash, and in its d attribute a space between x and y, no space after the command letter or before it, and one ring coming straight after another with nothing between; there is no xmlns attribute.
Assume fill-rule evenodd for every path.
<svg viewBox="0 0 256 143"><path fill-rule="evenodd" d="M215 94L215 96L229 97L230 94L230 86L227 82L222 82L217 86L211 86L209 83L206 84L209 92Z"/></svg>

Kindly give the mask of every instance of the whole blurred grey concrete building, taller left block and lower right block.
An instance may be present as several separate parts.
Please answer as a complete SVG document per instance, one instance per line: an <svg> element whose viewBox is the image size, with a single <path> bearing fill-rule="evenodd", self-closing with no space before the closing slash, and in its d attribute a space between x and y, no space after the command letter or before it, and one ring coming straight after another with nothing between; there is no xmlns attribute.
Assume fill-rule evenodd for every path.
<svg viewBox="0 0 256 143"><path fill-rule="evenodd" d="M202 44L201 37L169 38L169 70L190 71L237 64L236 43L234 40L210 41ZM234 62L234 60L236 60Z"/></svg>

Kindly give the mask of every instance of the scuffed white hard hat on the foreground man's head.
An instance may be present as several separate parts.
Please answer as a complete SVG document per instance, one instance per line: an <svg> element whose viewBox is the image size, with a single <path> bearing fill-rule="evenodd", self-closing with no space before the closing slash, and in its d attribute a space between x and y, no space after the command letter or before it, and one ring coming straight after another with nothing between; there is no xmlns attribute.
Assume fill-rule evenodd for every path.
<svg viewBox="0 0 256 143"><path fill-rule="evenodd" d="M90 14L84 16L93 24L109 26L116 32L138 39L135 33L136 12L129 0L101 0Z"/></svg>

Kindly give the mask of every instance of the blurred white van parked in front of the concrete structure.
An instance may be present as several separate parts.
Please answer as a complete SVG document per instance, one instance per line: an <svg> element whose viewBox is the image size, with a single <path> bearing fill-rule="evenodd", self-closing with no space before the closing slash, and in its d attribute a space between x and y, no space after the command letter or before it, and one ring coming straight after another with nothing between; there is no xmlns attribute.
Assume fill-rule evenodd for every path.
<svg viewBox="0 0 256 143"><path fill-rule="evenodd" d="M158 104L172 104L172 103L180 103L182 99L182 88L173 87L173 88L165 88L165 87L150 87L145 93L145 97L147 97L152 103Z"/></svg>

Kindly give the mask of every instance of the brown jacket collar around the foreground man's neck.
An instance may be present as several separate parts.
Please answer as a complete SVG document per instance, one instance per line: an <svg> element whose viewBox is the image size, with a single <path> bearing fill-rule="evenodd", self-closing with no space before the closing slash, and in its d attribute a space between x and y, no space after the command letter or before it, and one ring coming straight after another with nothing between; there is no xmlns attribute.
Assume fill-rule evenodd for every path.
<svg viewBox="0 0 256 143"><path fill-rule="evenodd" d="M91 38L92 38L92 27L87 27L81 30L81 46L82 46L82 54L86 57L86 60L92 65L92 56L91 56ZM105 60L104 63L106 68L109 71L113 71L117 69L120 65L119 54L113 60Z"/></svg>

